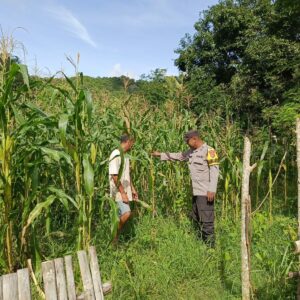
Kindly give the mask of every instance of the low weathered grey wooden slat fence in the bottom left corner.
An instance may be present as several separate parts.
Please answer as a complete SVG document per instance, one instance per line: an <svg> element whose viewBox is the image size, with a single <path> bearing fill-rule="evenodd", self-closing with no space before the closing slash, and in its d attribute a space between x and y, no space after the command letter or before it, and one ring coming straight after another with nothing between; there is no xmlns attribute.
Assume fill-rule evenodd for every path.
<svg viewBox="0 0 300 300"><path fill-rule="evenodd" d="M83 293L76 294L72 256L56 258L42 263L44 290L39 297L46 300L103 300L111 291L111 283L102 285L99 263L95 247L88 254L77 252ZM31 268L30 268L31 269ZM34 274L31 276L36 284ZM0 277L0 300L31 300L31 280L28 268Z"/></svg>

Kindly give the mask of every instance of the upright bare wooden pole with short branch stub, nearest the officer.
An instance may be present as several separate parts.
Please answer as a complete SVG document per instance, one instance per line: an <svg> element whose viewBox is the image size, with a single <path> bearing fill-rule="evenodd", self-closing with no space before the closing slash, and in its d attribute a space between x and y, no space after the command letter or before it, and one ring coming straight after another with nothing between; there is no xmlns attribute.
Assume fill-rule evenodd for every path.
<svg viewBox="0 0 300 300"><path fill-rule="evenodd" d="M242 203L241 203L241 254L242 254L242 299L250 300L250 242L249 224L251 201L249 194L250 174L256 165L250 166L251 143L245 137L242 177Z"/></svg>

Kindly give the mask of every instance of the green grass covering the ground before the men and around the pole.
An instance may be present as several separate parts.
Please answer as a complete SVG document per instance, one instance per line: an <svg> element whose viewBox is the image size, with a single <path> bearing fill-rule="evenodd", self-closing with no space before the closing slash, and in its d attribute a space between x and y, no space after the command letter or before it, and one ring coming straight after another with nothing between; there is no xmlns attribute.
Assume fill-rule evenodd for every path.
<svg viewBox="0 0 300 300"><path fill-rule="evenodd" d="M291 249L294 222L287 217L253 221L252 282L257 299L295 299ZM207 248L185 218L143 216L131 222L117 248L95 230L102 276L113 282L107 299L240 299L239 226L217 225L217 246Z"/></svg>

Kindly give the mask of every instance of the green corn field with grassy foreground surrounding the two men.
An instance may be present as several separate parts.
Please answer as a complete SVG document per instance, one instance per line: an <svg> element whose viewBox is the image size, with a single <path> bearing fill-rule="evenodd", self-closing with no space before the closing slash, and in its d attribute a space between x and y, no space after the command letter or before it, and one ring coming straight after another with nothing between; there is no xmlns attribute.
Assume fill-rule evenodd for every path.
<svg viewBox="0 0 300 300"><path fill-rule="evenodd" d="M230 110L197 115L180 78L168 78L171 92L160 105L130 91L134 83L126 77L117 92L99 88L80 73L79 56L69 58L72 77L30 76L13 59L14 44L3 37L0 48L1 274L30 258L41 284L41 261L95 245L102 276L114 286L108 299L240 299L245 132ZM188 218L187 166L151 156L185 150L182 136L191 128L221 162L215 250L197 239ZM126 132L135 138L130 158L141 201L114 248L118 212L109 197L108 162ZM250 137L257 162L250 184L253 292L257 299L294 299L287 274L298 268L295 137L275 141L254 130Z"/></svg>

